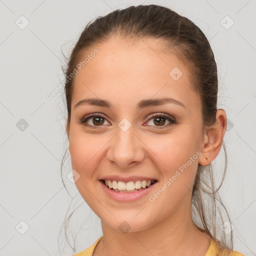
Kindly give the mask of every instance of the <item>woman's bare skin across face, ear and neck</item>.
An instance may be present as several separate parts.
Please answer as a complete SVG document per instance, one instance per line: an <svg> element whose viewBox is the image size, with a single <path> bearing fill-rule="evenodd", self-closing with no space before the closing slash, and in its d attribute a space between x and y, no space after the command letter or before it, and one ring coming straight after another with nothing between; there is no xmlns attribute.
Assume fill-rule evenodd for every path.
<svg viewBox="0 0 256 256"><path fill-rule="evenodd" d="M205 255L210 237L192 222L192 185L198 163L209 164L221 148L225 111L218 109L215 124L203 132L201 103L188 69L174 54L161 50L155 39L128 42L112 36L96 48L99 52L74 77L70 124L66 125L72 168L80 175L75 185L101 219L103 238L93 255ZM169 75L175 66L183 72L178 80ZM141 99L166 96L186 107L167 103L139 111L135 108ZM110 101L114 108L74 108L79 100L95 97ZM95 120L93 124L93 117L87 123L96 128L78 122L94 112L105 116L101 126ZM155 117L146 119L152 113L169 114L177 123L167 126L169 121L163 119L160 125L165 128L157 128ZM118 126L123 118L131 124L125 132ZM150 202L148 196L196 151L200 156ZM137 201L117 202L107 197L98 181L110 174L140 174L154 177L158 183L152 193ZM123 221L130 225L127 233L118 227Z"/></svg>

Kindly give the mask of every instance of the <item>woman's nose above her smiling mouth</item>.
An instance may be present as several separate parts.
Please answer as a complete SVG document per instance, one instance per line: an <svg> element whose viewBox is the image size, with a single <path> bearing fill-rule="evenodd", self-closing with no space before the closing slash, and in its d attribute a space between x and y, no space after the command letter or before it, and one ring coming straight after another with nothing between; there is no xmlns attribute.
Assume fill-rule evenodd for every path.
<svg viewBox="0 0 256 256"><path fill-rule="evenodd" d="M118 127L115 136L109 141L106 157L111 164L130 168L143 160L144 146L132 127L126 131Z"/></svg>

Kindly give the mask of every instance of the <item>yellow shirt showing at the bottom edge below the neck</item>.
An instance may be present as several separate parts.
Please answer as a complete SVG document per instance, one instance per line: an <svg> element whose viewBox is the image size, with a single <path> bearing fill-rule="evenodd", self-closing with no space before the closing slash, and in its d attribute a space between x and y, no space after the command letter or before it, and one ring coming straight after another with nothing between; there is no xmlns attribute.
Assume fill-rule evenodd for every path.
<svg viewBox="0 0 256 256"><path fill-rule="evenodd" d="M103 237L103 235L100 236L100 237L99 237L92 245L90 245L87 249L85 249L85 250L83 250L83 251L81 251L81 252L78 252L78 253L76 253L76 254L73 254L72 256L94 256L94 255L92 255L92 252L93 252L94 248L96 247L97 243L99 242L99 240L100 240L102 237ZM214 244L213 244L213 239L211 238L209 248L208 248L208 250L207 250L207 252L206 252L206 254L205 254L204 256L216 256L216 255L217 255L216 252L217 252L217 249L216 249L216 247L215 247ZM225 256L225 255L227 255L227 249L224 249L224 250L222 250L222 251L219 253L219 256ZM238 251L236 251L236 250L233 250L231 255L232 255L232 256L244 256L242 253L240 253L240 252L238 252Z"/></svg>

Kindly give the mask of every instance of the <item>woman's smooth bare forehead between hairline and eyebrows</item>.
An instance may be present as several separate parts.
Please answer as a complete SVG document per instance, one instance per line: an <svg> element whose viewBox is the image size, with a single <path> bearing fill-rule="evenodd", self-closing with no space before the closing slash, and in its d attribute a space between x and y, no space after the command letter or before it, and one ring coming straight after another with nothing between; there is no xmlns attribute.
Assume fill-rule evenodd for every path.
<svg viewBox="0 0 256 256"><path fill-rule="evenodd" d="M99 97L114 105L169 96L200 107L191 74L163 41L149 38L126 41L111 37L86 50L87 57L73 80L72 106L83 98ZM91 54L95 52L96 54ZM82 63L82 62L81 62Z"/></svg>

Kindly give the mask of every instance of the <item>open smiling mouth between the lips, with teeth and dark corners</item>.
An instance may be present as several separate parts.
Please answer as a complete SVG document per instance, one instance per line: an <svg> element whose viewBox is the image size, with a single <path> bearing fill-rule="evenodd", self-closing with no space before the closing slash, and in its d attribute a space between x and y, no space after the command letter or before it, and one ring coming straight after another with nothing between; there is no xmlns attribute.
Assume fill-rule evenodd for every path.
<svg viewBox="0 0 256 256"><path fill-rule="evenodd" d="M129 182L122 182L116 180L106 180L106 179L99 179L104 186L115 191L117 193L134 193L140 190L146 190L151 185L158 182L156 179L152 180L137 180L136 182L129 181Z"/></svg>

